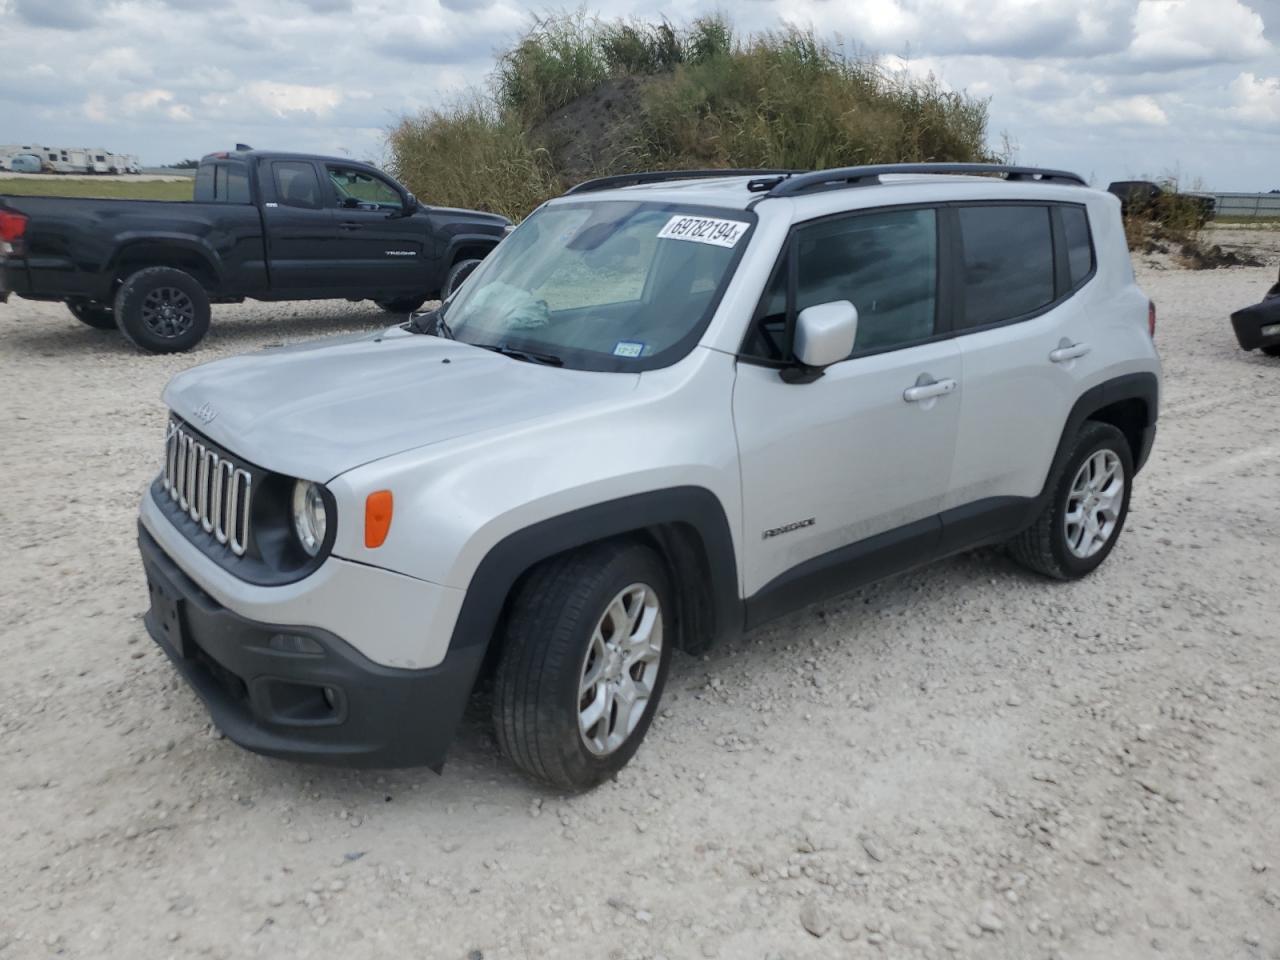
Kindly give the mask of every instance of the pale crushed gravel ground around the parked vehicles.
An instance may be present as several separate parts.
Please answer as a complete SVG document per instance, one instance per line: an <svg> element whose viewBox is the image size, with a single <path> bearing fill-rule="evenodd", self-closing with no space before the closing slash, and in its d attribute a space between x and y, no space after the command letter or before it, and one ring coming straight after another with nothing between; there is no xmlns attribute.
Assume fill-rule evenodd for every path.
<svg viewBox="0 0 1280 960"><path fill-rule="evenodd" d="M0 960L1280 957L1280 361L1226 320L1277 237L1139 266L1165 408L1098 573L984 550L682 657L579 797L483 701L443 777L255 756L145 634L163 384L376 308L216 307L148 357L0 306Z"/></svg>

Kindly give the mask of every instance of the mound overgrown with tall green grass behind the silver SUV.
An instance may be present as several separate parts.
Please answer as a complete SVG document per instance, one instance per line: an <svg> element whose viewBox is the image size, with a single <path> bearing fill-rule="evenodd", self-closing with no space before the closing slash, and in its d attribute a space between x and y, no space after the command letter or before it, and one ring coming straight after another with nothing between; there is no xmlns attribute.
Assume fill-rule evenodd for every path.
<svg viewBox="0 0 1280 960"><path fill-rule="evenodd" d="M485 90L406 116L388 145L429 202L513 218L611 173L992 159L986 100L812 32L739 37L723 17L536 20Z"/></svg>

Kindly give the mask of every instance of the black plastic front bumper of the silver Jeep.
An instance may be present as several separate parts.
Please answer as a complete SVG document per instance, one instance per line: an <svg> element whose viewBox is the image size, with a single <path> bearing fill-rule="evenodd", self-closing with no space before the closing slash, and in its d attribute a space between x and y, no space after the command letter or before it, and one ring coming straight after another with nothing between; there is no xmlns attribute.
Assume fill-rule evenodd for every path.
<svg viewBox="0 0 1280 960"><path fill-rule="evenodd" d="M233 741L315 763L440 769L483 645L449 650L428 669L384 667L328 631L227 609L141 524L138 548L147 631Z"/></svg>

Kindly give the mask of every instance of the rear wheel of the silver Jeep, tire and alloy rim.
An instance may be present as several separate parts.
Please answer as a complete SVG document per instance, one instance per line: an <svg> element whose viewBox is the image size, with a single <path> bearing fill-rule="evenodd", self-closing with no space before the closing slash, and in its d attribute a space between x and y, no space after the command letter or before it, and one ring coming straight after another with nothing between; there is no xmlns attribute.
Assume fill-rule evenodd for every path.
<svg viewBox="0 0 1280 960"><path fill-rule="evenodd" d="M1105 479L1112 465L1120 471L1120 489L1112 490L1112 485L1106 484L1101 490L1091 490L1094 483L1091 477ZM1092 471L1088 476L1087 468ZM1036 522L1009 541L1010 553L1024 567L1044 576L1079 580L1107 558L1129 516L1133 453L1124 434L1110 424L1084 421L1051 489L1050 503ZM1089 522L1068 522L1068 509L1082 506L1082 493L1097 498L1093 500L1097 507L1084 506L1083 515L1073 512L1092 517L1092 531ZM1089 502L1085 499L1084 504Z"/></svg>

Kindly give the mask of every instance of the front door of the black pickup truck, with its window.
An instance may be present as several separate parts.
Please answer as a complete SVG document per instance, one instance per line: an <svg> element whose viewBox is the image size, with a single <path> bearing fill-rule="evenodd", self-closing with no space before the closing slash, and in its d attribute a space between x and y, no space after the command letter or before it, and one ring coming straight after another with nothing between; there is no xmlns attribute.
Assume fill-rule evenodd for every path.
<svg viewBox="0 0 1280 960"><path fill-rule="evenodd" d="M362 166L326 163L324 173L340 244L337 285L366 297L430 293L436 271L428 218L404 216L401 191Z"/></svg>

